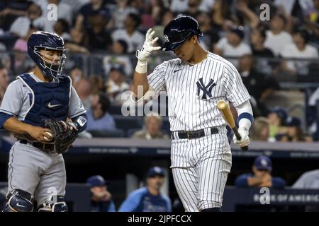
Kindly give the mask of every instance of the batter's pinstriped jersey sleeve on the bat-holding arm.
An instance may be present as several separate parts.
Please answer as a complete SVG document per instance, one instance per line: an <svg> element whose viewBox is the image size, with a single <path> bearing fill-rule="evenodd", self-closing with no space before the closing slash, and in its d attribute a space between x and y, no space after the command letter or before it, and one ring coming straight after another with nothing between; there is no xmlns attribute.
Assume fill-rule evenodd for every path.
<svg viewBox="0 0 319 226"><path fill-rule="evenodd" d="M225 96L233 103L234 107L250 100L250 94L248 93L244 83L242 83L242 77L233 64L225 64L223 76L226 92Z"/></svg>

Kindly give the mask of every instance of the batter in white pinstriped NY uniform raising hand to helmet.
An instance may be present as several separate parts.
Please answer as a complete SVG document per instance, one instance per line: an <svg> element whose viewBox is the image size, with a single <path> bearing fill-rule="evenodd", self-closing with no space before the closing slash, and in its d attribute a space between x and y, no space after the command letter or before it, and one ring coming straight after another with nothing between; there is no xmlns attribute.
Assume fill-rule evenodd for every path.
<svg viewBox="0 0 319 226"><path fill-rule="evenodd" d="M232 102L238 112L240 147L248 145L253 121L250 95L237 69L227 60L201 47L201 32L190 16L172 20L164 28L163 51L173 51L176 59L164 61L147 76L147 58L161 47L148 30L134 73L135 100L148 90L166 90L172 131L172 173L186 211L221 210L223 191L232 164L226 123L217 109L220 100ZM139 92L142 90L142 92ZM147 93L147 95L145 95Z"/></svg>

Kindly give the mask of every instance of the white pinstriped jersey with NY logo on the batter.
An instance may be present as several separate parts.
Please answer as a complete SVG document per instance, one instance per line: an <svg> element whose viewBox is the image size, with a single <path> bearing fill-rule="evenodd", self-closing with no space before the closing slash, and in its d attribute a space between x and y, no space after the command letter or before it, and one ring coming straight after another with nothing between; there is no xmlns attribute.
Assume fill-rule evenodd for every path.
<svg viewBox="0 0 319 226"><path fill-rule="evenodd" d="M225 126L218 101L237 107L250 99L235 66L211 52L194 66L179 58L164 61L147 80L156 93L167 91L171 131Z"/></svg>

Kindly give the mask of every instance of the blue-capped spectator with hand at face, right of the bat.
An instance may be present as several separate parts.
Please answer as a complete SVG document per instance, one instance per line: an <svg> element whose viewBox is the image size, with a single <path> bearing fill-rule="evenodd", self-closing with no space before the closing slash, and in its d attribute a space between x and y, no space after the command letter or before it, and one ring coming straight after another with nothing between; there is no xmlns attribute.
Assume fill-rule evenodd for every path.
<svg viewBox="0 0 319 226"><path fill-rule="evenodd" d="M269 120L269 141L276 141L276 136L284 134L287 131L285 126L287 118L287 112L285 109L280 107L274 107L269 114L267 119Z"/></svg>

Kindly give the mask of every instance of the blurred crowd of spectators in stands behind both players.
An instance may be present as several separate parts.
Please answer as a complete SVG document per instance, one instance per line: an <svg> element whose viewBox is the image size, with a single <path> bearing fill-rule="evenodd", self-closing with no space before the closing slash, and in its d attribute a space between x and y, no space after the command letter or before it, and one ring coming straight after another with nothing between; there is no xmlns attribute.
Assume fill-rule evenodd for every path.
<svg viewBox="0 0 319 226"><path fill-rule="evenodd" d="M50 20L48 4L57 6L57 20ZM263 17L261 4L269 6ZM319 88L289 87L305 95L303 114L291 114L291 109L282 108L285 103L277 102L282 108L278 109L267 102L283 89L283 81L319 83L319 0L4 0L0 2L0 102L10 81L33 69L26 54L30 34L56 32L68 49L65 73L88 110L92 132L86 136L168 138L169 129L162 130L163 119L157 115L140 120L131 128L135 131L124 135L116 117L128 100L124 97L130 95L135 51L142 47L146 30L153 28L157 44L162 45L164 26L182 14L198 20L203 47L230 59L240 72L257 118L254 140L319 139ZM86 56L89 70L77 56ZM149 70L172 57L159 51Z"/></svg>

